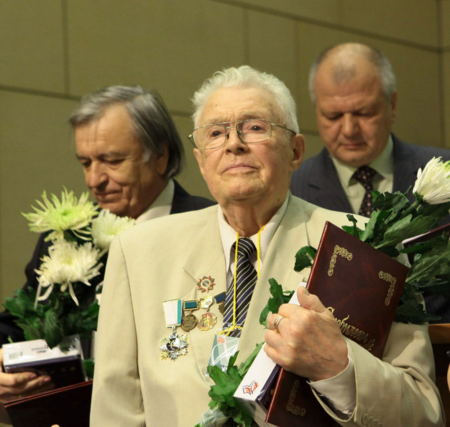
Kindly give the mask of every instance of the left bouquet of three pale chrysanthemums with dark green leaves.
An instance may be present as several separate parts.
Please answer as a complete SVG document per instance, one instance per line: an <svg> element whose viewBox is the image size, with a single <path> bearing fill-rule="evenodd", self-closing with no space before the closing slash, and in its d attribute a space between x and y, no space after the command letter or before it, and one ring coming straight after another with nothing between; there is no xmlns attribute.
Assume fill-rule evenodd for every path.
<svg viewBox="0 0 450 427"><path fill-rule="evenodd" d="M19 289L6 299L5 307L17 316L26 340L43 338L49 347L65 336L90 338L96 330L98 302L107 251L120 231L134 225L134 219L117 217L100 210L88 200L62 191L61 199L46 192L37 200L34 212L22 214L35 233L46 233L48 254L43 255L37 274L37 289Z"/></svg>

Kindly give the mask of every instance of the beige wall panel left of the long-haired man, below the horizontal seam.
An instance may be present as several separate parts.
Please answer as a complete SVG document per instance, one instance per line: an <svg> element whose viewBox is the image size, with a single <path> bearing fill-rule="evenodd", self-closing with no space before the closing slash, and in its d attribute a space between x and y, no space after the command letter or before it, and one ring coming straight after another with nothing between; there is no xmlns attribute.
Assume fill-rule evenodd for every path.
<svg viewBox="0 0 450 427"><path fill-rule="evenodd" d="M82 169L75 160L67 118L76 102L0 91L0 304L21 287L37 235L20 212L43 190L62 185L81 194Z"/></svg>

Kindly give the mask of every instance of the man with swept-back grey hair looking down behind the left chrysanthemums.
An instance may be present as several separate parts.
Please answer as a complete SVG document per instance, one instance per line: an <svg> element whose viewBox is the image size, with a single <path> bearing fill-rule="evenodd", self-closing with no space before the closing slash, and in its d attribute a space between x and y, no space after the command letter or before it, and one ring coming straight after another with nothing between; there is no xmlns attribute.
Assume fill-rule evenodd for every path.
<svg viewBox="0 0 450 427"><path fill-rule="evenodd" d="M100 208L139 223L214 204L191 196L174 180L183 164L183 143L155 91L107 87L82 98L69 121L84 178ZM47 251L42 235L26 266L25 288L37 288L35 269ZM8 342L8 336L14 341L24 339L14 317L3 311L0 346ZM0 354L0 402L40 391L49 381L30 373L2 373L2 360Z"/></svg>

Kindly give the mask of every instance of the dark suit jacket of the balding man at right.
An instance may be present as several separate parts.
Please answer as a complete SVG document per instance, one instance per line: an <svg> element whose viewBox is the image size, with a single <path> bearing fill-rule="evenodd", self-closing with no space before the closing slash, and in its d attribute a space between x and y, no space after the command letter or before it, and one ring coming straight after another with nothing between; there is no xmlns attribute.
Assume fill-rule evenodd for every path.
<svg viewBox="0 0 450 427"><path fill-rule="evenodd" d="M406 192L415 183L417 170L434 157L450 159L450 150L404 143L394 134L394 183L393 191ZM308 158L292 174L291 192L321 208L352 212L342 188L330 154L324 148L321 153ZM408 199L413 201L411 192ZM448 222L448 221L447 221ZM344 225L344 224L343 224ZM429 312L442 316L438 322L450 322L450 301L440 296L425 296Z"/></svg>

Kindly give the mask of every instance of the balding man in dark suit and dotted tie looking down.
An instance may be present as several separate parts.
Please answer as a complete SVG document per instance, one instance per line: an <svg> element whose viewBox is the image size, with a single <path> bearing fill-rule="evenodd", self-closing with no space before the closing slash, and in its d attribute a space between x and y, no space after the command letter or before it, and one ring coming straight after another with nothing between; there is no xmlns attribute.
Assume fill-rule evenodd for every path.
<svg viewBox="0 0 450 427"><path fill-rule="evenodd" d="M405 143L391 132L395 75L388 58L374 48L347 43L323 51L309 72L309 93L325 147L292 175L291 192L302 199L369 215L367 188L406 192L433 156L450 159L450 150ZM371 182L363 182L359 172L370 174ZM426 305L440 321L450 322L448 300L426 298Z"/></svg>

